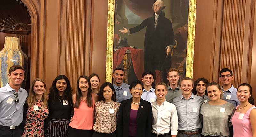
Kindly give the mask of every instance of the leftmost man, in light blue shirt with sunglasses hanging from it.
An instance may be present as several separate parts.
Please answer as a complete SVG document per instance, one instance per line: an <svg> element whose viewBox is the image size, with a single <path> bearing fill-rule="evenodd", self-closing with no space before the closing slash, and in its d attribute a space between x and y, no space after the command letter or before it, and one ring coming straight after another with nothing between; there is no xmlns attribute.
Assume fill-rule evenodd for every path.
<svg viewBox="0 0 256 137"><path fill-rule="evenodd" d="M20 137L23 133L23 105L28 93L21 88L24 68L14 65L9 69L10 83L0 88L0 137Z"/></svg>

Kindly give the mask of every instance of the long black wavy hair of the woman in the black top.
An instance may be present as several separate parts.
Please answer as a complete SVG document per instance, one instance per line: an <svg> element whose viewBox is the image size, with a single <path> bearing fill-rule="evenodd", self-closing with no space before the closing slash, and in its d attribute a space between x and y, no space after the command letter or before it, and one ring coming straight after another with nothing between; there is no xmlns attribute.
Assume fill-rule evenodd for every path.
<svg viewBox="0 0 256 137"><path fill-rule="evenodd" d="M58 95L58 90L56 88L56 83L58 80L62 80L64 79L67 83L67 87L65 89L65 91L63 92L63 95L62 95L62 100L68 100L69 102L68 103L72 103L70 102L70 100L72 100L72 87L70 85L70 82L68 80L68 77L65 76L65 75L59 75L57 76L53 82L52 82L52 86L51 88L49 89L49 100L53 100L53 103L55 101L55 99L57 98L57 95Z"/></svg>

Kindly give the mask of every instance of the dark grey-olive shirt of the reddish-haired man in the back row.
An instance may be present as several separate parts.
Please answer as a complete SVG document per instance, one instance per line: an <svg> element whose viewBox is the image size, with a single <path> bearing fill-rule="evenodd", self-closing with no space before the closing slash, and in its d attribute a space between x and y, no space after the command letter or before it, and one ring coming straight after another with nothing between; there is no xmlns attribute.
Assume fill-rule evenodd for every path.
<svg viewBox="0 0 256 137"><path fill-rule="evenodd" d="M166 90L168 91L167 92L167 95L165 96L166 100L170 103L172 103L173 99L176 98L176 97L179 97L180 95L182 95L182 91L180 90L180 87L178 86L177 88L175 89L172 89L170 87L170 85L168 85L166 87Z"/></svg>

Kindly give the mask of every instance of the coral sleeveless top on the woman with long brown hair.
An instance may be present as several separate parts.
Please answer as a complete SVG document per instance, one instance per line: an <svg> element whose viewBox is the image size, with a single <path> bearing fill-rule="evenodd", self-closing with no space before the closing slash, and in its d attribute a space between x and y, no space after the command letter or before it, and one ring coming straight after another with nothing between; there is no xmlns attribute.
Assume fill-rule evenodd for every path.
<svg viewBox="0 0 256 137"><path fill-rule="evenodd" d="M79 108L74 108L73 121L69 126L76 129L92 130L94 117L94 99L92 97L93 108L87 106L86 101L80 101Z"/></svg>

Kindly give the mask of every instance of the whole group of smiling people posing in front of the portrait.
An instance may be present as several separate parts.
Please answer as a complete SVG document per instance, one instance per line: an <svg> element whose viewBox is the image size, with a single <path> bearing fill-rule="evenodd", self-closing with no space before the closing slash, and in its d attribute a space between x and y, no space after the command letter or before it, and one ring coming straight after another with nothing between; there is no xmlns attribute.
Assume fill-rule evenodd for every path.
<svg viewBox="0 0 256 137"><path fill-rule="evenodd" d="M116 68L113 84L100 88L97 74L80 76L73 95L65 75L53 80L49 94L37 78L28 94L20 87L24 74L21 66L12 66L10 82L0 88L0 137L256 136L252 87L234 88L227 68L220 71L222 86L205 78L180 79L179 71L170 69L168 86L155 87L151 71L128 85L124 70Z"/></svg>

